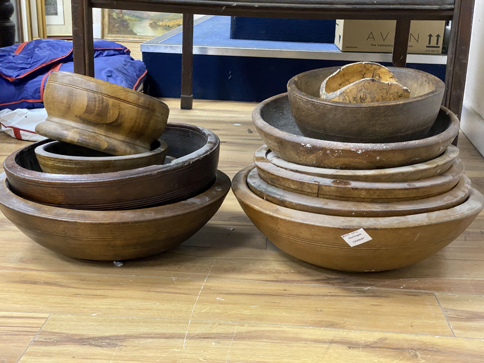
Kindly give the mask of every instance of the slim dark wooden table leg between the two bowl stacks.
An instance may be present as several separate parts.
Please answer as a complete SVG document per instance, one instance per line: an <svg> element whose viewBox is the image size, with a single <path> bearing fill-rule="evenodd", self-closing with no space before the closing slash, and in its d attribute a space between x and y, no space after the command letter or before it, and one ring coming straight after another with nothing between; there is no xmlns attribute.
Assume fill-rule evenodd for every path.
<svg viewBox="0 0 484 363"><path fill-rule="evenodd" d="M191 110L193 105L193 14L183 14L181 46L181 102L180 108Z"/></svg>

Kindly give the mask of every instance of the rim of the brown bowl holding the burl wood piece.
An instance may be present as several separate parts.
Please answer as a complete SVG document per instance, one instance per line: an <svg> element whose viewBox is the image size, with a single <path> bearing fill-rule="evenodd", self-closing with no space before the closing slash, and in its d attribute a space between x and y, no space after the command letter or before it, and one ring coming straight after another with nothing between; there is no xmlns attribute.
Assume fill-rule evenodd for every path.
<svg viewBox="0 0 484 363"><path fill-rule="evenodd" d="M299 97L303 100L307 100L310 102L315 102L318 104L322 105L330 105L330 106L339 106L339 107L353 107L353 108L368 108L368 107L384 107L384 106L390 106L390 105L400 105L400 104L406 104L406 103L411 103L411 102L418 102L420 100L423 100L425 98L432 97L435 94L438 94L440 92L445 91L445 83L442 82L442 80L434 75L431 75L430 73L419 71L417 69L412 69L412 68L400 68L400 67L386 67L390 70L390 72L393 73L393 70L398 70L398 71L404 71L408 73L414 73L420 76L428 76L434 84L435 88L433 91L421 94L420 96L417 97L409 97L401 100L393 100L393 101L382 101L382 102L372 102L372 103L347 103L347 102L339 102L339 101L331 101L331 100L324 100L319 97L311 96L310 94L307 94L303 91L301 91L297 87L297 82L300 78L305 77L305 76L311 76L314 73L319 73L322 70L333 70L336 71L341 67L326 67L326 68L318 68L318 69L312 69L310 71L302 72L296 76L293 76L289 81L287 82L287 92L290 93L293 96ZM410 90L411 92L411 90ZM411 93L410 93L411 94Z"/></svg>

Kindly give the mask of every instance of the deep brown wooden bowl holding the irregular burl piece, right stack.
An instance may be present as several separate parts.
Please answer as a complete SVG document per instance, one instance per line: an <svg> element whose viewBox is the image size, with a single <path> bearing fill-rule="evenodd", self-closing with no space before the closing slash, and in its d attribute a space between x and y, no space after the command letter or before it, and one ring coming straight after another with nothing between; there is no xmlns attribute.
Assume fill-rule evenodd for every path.
<svg viewBox="0 0 484 363"><path fill-rule="evenodd" d="M388 143L421 138L430 130L445 90L436 76L410 68L389 67L410 98L346 103L319 98L321 83L339 67L294 76L287 83L289 104L302 135L340 142Z"/></svg>

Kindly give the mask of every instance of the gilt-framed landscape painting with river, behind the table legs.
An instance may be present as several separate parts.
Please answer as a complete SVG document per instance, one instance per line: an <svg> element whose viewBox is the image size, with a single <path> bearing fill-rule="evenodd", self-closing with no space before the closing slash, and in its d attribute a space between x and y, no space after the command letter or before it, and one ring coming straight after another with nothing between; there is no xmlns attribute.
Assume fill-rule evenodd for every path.
<svg viewBox="0 0 484 363"><path fill-rule="evenodd" d="M103 9L102 36L103 39L144 41L181 24L181 14Z"/></svg>

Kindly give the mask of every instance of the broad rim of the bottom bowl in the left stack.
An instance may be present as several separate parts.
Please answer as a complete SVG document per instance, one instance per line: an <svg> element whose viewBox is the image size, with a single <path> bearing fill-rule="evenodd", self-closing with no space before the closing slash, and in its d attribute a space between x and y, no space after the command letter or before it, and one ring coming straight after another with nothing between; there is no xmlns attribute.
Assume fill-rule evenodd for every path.
<svg viewBox="0 0 484 363"><path fill-rule="evenodd" d="M17 213L43 219L71 223L115 225L126 222L160 220L199 210L225 197L230 190L230 186L230 178L224 172L217 170L216 179L207 190L179 202L130 210L92 211L50 206L19 197L7 186L7 177L3 172L0 174L0 206ZM42 214L38 213L39 209L42 209Z"/></svg>

